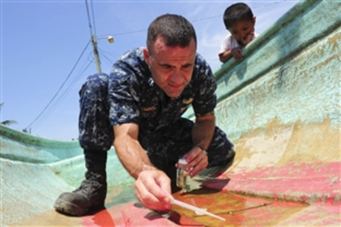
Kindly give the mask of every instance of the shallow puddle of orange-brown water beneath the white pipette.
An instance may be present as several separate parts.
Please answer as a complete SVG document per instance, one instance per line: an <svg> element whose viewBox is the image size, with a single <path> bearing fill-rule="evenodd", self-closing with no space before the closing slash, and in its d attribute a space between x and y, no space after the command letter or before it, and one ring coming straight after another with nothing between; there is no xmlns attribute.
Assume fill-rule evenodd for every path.
<svg viewBox="0 0 341 227"><path fill-rule="evenodd" d="M206 208L209 212L226 219L225 222L208 216L198 216L180 207L175 211L186 215L204 226L275 226L281 220L308 205L290 201L249 197L221 191L196 190L189 194L175 195L177 199Z"/></svg>

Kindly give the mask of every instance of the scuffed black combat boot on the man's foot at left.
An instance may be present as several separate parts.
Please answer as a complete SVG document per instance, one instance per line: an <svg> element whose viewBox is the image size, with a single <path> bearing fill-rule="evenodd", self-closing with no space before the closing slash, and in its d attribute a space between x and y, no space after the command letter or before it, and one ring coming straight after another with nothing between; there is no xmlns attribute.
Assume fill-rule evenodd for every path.
<svg viewBox="0 0 341 227"><path fill-rule="evenodd" d="M104 207L107 193L106 151L85 150L85 180L72 192L62 193L54 208L64 214L81 216Z"/></svg>

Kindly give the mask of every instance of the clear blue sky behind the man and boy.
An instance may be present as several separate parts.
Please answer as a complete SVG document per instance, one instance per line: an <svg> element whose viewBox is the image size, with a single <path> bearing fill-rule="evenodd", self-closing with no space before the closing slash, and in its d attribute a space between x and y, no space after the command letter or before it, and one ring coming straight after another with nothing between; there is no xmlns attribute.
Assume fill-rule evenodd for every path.
<svg viewBox="0 0 341 227"><path fill-rule="evenodd" d="M236 2L88 0L95 35L111 34L115 39L112 44L98 40L102 71L109 73L125 51L145 46L148 25L164 13L192 22L197 51L217 70L221 65L217 54L228 34L222 15ZM299 1L243 2L251 7L261 34ZM96 72L91 44L86 48L90 28L85 0L1 0L0 7L1 121L16 120L10 127L21 131L30 126L32 135L44 138L77 138L78 90Z"/></svg>

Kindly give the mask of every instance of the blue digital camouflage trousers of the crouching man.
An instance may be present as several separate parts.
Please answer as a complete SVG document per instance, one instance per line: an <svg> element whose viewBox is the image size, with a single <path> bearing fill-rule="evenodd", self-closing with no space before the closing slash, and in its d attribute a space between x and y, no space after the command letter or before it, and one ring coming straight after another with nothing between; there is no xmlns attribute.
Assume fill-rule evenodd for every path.
<svg viewBox="0 0 341 227"><path fill-rule="evenodd" d="M107 151L113 144L113 127L109 121L108 75L89 76L79 91L79 143L85 150ZM192 147L194 122L179 118L173 125L157 131L139 129L138 140L147 151L151 162L160 169L174 164ZM231 161L233 144L216 127L207 149L209 167ZM230 155L229 155L230 154ZM227 160L229 159L229 160Z"/></svg>

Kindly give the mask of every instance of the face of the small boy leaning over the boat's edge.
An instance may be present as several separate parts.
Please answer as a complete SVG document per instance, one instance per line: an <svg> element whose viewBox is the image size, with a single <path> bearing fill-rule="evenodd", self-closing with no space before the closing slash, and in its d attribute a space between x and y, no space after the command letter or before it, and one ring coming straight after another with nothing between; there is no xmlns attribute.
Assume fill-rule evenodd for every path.
<svg viewBox="0 0 341 227"><path fill-rule="evenodd" d="M256 17L253 17L252 20L241 20L235 22L228 30L231 35L237 40L239 45L246 45L245 41L248 36L254 35L254 26L256 22Z"/></svg>

